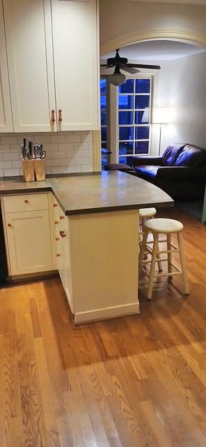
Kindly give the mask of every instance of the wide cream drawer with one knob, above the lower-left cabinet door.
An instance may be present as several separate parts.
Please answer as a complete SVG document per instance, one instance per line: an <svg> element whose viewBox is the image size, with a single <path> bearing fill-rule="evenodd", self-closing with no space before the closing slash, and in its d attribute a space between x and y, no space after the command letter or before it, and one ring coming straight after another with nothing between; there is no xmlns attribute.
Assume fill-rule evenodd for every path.
<svg viewBox="0 0 206 447"><path fill-rule="evenodd" d="M3 197L4 212L48 210L48 196L44 194L24 194Z"/></svg>

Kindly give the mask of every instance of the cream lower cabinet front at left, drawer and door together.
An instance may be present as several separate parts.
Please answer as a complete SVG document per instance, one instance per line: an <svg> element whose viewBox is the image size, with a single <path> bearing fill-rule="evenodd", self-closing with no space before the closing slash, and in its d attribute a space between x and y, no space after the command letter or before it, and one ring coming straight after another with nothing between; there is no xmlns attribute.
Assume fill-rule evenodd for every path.
<svg viewBox="0 0 206 447"><path fill-rule="evenodd" d="M10 276L52 270L47 194L4 197L3 211Z"/></svg>

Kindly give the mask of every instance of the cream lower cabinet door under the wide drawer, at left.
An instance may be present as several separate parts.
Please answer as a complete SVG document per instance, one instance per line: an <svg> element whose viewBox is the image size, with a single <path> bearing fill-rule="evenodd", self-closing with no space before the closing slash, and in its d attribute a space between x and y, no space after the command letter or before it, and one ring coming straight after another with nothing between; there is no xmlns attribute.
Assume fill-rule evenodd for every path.
<svg viewBox="0 0 206 447"><path fill-rule="evenodd" d="M10 274L52 270L49 211L6 213Z"/></svg>

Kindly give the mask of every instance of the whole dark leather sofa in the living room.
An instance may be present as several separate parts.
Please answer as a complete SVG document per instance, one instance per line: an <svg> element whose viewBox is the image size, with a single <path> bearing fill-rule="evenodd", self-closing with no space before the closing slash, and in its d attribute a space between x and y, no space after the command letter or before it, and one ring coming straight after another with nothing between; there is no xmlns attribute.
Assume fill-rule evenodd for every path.
<svg viewBox="0 0 206 447"><path fill-rule="evenodd" d="M162 156L133 156L133 167L137 177L159 186L174 200L204 197L206 149L173 144Z"/></svg>

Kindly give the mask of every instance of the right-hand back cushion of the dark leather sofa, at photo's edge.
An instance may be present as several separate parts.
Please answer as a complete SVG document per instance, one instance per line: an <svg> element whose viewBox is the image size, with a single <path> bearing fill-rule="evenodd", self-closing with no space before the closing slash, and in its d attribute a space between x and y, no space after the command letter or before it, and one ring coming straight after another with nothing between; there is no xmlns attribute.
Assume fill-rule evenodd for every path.
<svg viewBox="0 0 206 447"><path fill-rule="evenodd" d="M191 166L204 168L206 165L206 149L198 146L186 145L175 161L175 166Z"/></svg>

